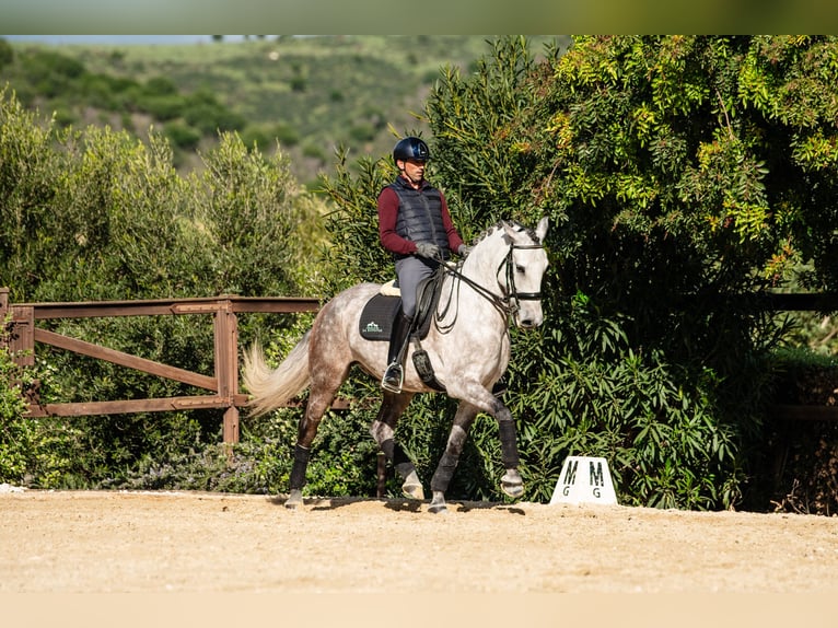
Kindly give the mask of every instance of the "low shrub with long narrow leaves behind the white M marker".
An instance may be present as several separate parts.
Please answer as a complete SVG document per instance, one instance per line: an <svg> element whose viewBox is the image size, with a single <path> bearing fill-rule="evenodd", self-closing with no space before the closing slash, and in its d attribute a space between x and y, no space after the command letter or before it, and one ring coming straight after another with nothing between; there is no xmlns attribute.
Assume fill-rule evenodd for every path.
<svg viewBox="0 0 838 628"><path fill-rule="evenodd" d="M566 321L540 347L527 344L538 362L515 373L528 385L510 395L523 468L545 480L533 497L549 499L565 457L593 455L610 461L621 503L707 509L740 499L735 433L708 396L714 374L671 364L660 349L636 351L624 322L580 295Z"/></svg>

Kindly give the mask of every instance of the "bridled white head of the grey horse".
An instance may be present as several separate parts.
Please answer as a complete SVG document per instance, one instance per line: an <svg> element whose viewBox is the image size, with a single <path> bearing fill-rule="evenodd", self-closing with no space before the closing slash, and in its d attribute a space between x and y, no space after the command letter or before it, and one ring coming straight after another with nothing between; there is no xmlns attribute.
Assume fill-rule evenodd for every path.
<svg viewBox="0 0 838 628"><path fill-rule="evenodd" d="M498 281L513 312L515 325L524 329L532 329L544 322L542 279L548 264L544 251L548 222L544 217L535 231L520 224L503 223L509 253L505 263L498 269Z"/></svg>

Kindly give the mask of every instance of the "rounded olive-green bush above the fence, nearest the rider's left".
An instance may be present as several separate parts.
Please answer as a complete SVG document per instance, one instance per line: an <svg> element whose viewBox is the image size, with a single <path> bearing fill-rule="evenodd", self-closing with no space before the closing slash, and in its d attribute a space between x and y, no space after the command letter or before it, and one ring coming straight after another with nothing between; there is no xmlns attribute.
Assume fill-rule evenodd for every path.
<svg viewBox="0 0 838 628"><path fill-rule="evenodd" d="M323 205L300 186L288 159L279 151L266 159L222 133L203 164L189 179L189 218L202 275L217 278L208 288L249 296L318 290L309 261L326 242Z"/></svg>

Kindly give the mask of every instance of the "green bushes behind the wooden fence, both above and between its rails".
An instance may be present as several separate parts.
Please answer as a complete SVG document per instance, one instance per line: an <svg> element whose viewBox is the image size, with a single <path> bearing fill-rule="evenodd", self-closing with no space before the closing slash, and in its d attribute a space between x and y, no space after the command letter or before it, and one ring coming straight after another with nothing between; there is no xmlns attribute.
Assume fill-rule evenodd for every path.
<svg viewBox="0 0 838 628"><path fill-rule="evenodd" d="M203 170L183 178L161 136L142 143L106 128L56 130L14 94L0 96L0 284L11 288L13 302L319 292L319 276L305 266L324 242L323 206L295 183L281 154L265 159L236 136L222 135L202 155ZM158 316L50 325L70 337L211 373L212 325L202 322ZM243 317L242 341L267 325L281 329L288 319ZM38 357L55 373L42 381L45 402L197 394L71 352L42 347ZM198 477L197 467L206 464L203 475L211 475L210 449L221 426L211 411L18 419L4 443L16 443L15 452L28 457L7 452L13 468L4 474L32 486L72 488L179 477L161 470L166 465L183 464L184 473ZM150 479L155 474L158 480Z"/></svg>

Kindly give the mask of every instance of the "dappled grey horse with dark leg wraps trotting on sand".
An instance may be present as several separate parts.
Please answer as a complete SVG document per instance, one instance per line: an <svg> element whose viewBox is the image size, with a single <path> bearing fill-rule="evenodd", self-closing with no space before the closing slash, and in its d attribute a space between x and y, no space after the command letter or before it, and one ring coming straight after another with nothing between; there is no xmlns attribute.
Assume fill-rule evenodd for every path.
<svg viewBox="0 0 838 628"><path fill-rule="evenodd" d="M501 461L505 468L501 490L511 498L520 498L524 492L517 470L515 422L492 387L509 365L509 318L522 329L535 328L544 322L540 290L548 266L544 248L547 228L547 217L540 219L536 229L500 221L477 239L457 266L443 265L439 301L419 349L426 352L423 358L433 369L433 383L458 399L458 404L445 451L431 478L429 512L446 510L445 492L478 412L491 415L498 421ZM269 412L310 388L298 426L287 508L303 503L302 489L312 442L350 367L359 364L379 380L386 368L387 342L368 340L359 332L364 305L381 289L381 284L364 282L330 299L276 369L266 363L258 341L244 354L243 382L251 394L247 402L251 416ZM407 358L416 350L414 344ZM382 405L370 433L399 474L404 495L423 501L424 491L414 463L394 440L394 434L412 397L418 393L439 392L439 388L429 385L427 376L420 376L414 360L405 362L401 391L383 391Z"/></svg>

